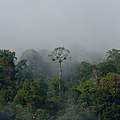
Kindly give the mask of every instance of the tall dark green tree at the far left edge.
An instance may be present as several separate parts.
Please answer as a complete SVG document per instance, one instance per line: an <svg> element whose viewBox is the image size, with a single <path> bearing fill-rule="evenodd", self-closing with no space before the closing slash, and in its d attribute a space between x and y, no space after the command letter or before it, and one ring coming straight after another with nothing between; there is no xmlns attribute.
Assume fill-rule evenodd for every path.
<svg viewBox="0 0 120 120"><path fill-rule="evenodd" d="M0 102L12 101L15 93L15 52L0 50Z"/></svg>

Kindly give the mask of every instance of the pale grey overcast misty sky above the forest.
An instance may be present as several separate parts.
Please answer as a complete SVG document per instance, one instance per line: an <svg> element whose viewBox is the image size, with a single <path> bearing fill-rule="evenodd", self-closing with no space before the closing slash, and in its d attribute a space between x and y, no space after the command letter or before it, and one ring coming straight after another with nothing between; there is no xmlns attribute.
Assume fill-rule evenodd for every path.
<svg viewBox="0 0 120 120"><path fill-rule="evenodd" d="M120 49L120 0L0 0L0 48Z"/></svg>

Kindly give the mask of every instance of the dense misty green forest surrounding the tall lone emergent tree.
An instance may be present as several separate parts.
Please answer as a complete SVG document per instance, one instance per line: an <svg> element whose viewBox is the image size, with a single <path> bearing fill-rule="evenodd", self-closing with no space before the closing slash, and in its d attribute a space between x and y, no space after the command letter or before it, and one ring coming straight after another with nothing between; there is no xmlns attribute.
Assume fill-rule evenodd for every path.
<svg viewBox="0 0 120 120"><path fill-rule="evenodd" d="M0 50L0 120L119 120L120 50L98 62L58 65L49 51ZM69 64L68 64L69 63Z"/></svg>

